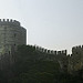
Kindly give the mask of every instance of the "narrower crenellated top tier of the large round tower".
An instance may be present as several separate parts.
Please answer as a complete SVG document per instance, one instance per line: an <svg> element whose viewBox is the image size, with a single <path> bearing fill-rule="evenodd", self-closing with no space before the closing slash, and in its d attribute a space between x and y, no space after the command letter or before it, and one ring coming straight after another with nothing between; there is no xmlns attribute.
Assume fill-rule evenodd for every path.
<svg viewBox="0 0 83 83"><path fill-rule="evenodd" d="M12 19L0 19L0 25L20 25L20 22Z"/></svg>

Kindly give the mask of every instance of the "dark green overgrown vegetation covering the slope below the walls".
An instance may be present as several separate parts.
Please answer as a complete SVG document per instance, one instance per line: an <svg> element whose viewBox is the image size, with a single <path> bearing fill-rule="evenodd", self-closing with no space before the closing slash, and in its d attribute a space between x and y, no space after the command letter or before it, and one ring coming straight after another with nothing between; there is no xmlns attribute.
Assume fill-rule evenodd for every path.
<svg viewBox="0 0 83 83"><path fill-rule="evenodd" d="M62 72L58 61L43 60L41 55L46 54L34 46L19 46L14 64L0 72L0 83L83 83L83 70L74 74Z"/></svg>

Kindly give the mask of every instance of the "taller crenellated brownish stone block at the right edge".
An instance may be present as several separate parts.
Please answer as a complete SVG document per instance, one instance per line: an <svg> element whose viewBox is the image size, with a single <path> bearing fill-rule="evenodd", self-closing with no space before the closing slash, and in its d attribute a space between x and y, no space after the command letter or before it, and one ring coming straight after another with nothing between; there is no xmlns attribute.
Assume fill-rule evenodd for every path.
<svg viewBox="0 0 83 83"><path fill-rule="evenodd" d="M77 71L83 69L83 45L72 48L72 54L69 56L68 71Z"/></svg>

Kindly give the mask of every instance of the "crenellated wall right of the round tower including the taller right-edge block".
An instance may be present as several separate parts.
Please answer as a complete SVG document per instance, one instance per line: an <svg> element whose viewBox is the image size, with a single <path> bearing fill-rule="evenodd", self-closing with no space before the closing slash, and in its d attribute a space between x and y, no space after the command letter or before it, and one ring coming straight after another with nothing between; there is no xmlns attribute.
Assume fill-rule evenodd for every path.
<svg viewBox="0 0 83 83"><path fill-rule="evenodd" d="M58 60L62 70L68 72L77 71L83 69L83 45L73 46L72 54L68 54L66 50L53 51L41 46L35 46L35 50L50 54L49 60ZM45 56L43 58L45 59Z"/></svg>

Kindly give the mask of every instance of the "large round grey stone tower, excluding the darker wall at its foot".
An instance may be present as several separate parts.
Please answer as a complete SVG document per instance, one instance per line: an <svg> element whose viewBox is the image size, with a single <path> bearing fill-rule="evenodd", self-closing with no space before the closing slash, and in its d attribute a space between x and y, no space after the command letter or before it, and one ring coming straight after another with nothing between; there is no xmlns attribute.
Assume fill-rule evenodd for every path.
<svg viewBox="0 0 83 83"><path fill-rule="evenodd" d="M0 19L0 54L11 53L18 45L27 44L27 30L19 21Z"/></svg>

